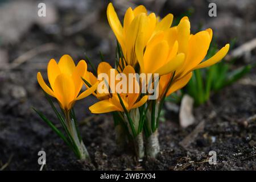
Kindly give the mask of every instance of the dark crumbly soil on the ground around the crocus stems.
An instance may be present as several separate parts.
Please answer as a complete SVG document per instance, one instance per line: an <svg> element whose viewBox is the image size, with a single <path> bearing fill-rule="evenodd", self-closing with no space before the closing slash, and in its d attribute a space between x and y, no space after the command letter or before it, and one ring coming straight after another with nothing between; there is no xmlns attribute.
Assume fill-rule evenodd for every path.
<svg viewBox="0 0 256 182"><path fill-rule="evenodd" d="M255 86L251 85L234 84L225 88L212 96L211 102L195 109L197 123L187 129L179 127L174 113L166 113L166 118L171 119L160 123L161 152L158 158L144 158L142 162L138 162L129 150L118 152L111 115L86 114L88 101L77 102L82 138L92 158L89 163L76 160L64 142L31 111L30 106L26 106L39 108L49 118L55 119L38 88L33 99L19 102L0 116L1 162L6 163L12 156L6 169L39 169L38 151L44 150L47 154L45 170L256 169L255 122L243 123L255 113L255 91ZM27 114L20 114L19 107L27 107ZM188 147L182 147L179 143L201 121L205 122L204 129ZM216 151L216 165L207 162L209 151Z"/></svg>

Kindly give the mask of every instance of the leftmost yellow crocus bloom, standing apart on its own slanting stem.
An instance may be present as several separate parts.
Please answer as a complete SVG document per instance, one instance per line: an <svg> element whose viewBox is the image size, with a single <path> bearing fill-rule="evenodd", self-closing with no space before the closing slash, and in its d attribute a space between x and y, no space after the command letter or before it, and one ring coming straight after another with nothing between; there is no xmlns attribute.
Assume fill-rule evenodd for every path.
<svg viewBox="0 0 256 182"><path fill-rule="evenodd" d="M94 84L91 88L79 94L82 88L81 77L85 77L86 73L87 64L84 60L79 61L76 66L71 56L63 55L58 64L54 59L51 59L48 63L47 74L51 88L44 82L40 72L38 72L37 78L44 92L55 97L61 108L68 111L75 101L89 96L97 89L97 84Z"/></svg>

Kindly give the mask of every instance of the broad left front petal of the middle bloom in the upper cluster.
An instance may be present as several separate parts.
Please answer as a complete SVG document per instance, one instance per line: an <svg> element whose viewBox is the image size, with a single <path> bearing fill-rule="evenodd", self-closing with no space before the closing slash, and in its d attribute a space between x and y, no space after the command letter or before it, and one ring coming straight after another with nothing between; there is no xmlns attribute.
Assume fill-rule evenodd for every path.
<svg viewBox="0 0 256 182"><path fill-rule="evenodd" d="M156 73L158 68L166 64L168 53L169 46L166 40L162 40L154 46L148 46L144 53L145 73Z"/></svg>

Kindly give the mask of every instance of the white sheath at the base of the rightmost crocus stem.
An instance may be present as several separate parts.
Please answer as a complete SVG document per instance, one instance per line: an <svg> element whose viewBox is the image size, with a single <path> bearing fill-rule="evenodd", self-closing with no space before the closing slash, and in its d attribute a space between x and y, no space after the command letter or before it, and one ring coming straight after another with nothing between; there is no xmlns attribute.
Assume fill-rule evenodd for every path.
<svg viewBox="0 0 256 182"><path fill-rule="evenodd" d="M147 156L151 158L156 158L160 151L158 135L158 129L156 129L155 132L146 139L146 153Z"/></svg>

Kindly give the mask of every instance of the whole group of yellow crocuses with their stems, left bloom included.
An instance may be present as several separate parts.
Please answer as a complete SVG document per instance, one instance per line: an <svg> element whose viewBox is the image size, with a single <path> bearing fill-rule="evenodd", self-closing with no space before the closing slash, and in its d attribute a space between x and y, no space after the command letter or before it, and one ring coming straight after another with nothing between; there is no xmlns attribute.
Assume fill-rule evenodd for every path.
<svg viewBox="0 0 256 182"><path fill-rule="evenodd" d="M94 75L87 71L84 60L76 66L70 56L64 55L58 64L53 59L49 61L50 86L40 72L38 82L44 92L59 102L65 113L64 124L73 140L76 141L79 134L69 113L77 100L93 94L99 101L89 110L95 114L113 114L119 149L131 143L138 158L143 158L145 151L148 156L155 157L160 150L158 126L164 98L183 88L195 69L220 61L228 52L229 44L204 60L213 32L208 28L191 34L187 16L177 26L171 27L172 14L160 19L154 13L148 13L144 6L138 6L127 9L121 24L112 3L108 5L107 16L118 40L115 68L102 62ZM136 77L142 74L152 77L143 82L142 77ZM153 81L155 75L159 77L157 82ZM127 79L124 80L123 76ZM86 90L80 93L83 81ZM150 99L155 93L143 92L145 85L154 88L158 97ZM75 142L76 147L82 148L81 143L81 140Z"/></svg>

